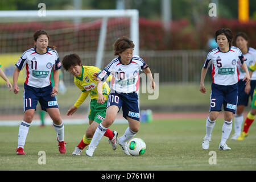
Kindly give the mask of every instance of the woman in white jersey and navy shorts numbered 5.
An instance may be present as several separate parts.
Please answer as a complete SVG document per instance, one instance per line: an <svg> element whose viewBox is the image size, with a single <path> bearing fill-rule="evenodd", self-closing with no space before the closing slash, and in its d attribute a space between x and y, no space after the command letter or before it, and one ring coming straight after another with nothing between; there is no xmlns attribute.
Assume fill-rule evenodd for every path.
<svg viewBox="0 0 256 182"><path fill-rule="evenodd" d="M212 92L210 93L210 114L206 121L206 135L202 147L208 150L212 130L215 125L218 114L224 105L224 124L222 126L221 142L219 150L230 150L226 144L232 130L232 118L236 113L237 93L238 93L238 72L237 64L245 71L245 84L250 81L250 75L247 69L246 58L237 47L232 47L233 35L229 28L221 28L215 32L215 40L218 48L213 49L207 55L204 67L201 71L200 92L205 93L204 78L207 69L212 64Z"/></svg>

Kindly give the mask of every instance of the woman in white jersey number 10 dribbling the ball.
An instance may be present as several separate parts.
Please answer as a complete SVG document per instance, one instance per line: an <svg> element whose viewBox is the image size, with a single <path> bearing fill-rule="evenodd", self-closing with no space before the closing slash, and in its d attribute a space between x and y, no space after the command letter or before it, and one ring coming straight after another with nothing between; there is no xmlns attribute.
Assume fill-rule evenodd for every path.
<svg viewBox="0 0 256 182"><path fill-rule="evenodd" d="M127 141L134 137L139 131L139 107L137 90L139 88L139 71L143 70L151 80L151 89L155 89L155 82L148 65L144 60L133 55L133 41L126 37L121 37L114 43L115 57L103 71L98 75L98 103L103 104L105 97L102 95L102 84L112 73L112 86L108 97L106 109L106 117L104 121L97 127L92 142L89 144L86 155L93 156L93 152L100 142L102 135L112 125L118 111L123 110L123 117L129 122L125 134L117 139L117 143L122 147L126 155L130 155L127 151Z"/></svg>

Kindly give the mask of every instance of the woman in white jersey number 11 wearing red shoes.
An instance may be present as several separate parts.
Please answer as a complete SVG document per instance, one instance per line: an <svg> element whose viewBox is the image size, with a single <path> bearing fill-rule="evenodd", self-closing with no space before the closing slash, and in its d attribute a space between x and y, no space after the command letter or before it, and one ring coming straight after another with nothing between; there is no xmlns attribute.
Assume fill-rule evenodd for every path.
<svg viewBox="0 0 256 182"><path fill-rule="evenodd" d="M13 75L14 93L19 92L17 85L19 72L26 67L26 81L24 82L23 92L23 121L19 126L17 155L25 155L24 144L28 134L28 129L35 114L38 101L42 110L48 112L53 121L53 127L57 133L59 151L61 154L66 152L64 142L64 125L60 118L59 106L56 101L59 86L59 69L61 63L55 51L56 47L48 46L49 36L46 31L38 30L34 34L34 48L28 49L23 53L18 62ZM51 72L55 86L51 85Z"/></svg>

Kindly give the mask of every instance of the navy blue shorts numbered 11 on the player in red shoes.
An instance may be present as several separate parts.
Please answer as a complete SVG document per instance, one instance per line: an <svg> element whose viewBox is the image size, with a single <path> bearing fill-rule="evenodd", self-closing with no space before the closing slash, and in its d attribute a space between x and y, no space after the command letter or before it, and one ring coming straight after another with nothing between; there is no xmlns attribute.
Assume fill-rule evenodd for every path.
<svg viewBox="0 0 256 182"><path fill-rule="evenodd" d="M46 86L44 88L35 88L33 86L28 86L24 84L23 92L23 109L24 111L28 109L35 109L38 101L41 105L42 110L47 108L57 107L56 97L51 97L52 85Z"/></svg>

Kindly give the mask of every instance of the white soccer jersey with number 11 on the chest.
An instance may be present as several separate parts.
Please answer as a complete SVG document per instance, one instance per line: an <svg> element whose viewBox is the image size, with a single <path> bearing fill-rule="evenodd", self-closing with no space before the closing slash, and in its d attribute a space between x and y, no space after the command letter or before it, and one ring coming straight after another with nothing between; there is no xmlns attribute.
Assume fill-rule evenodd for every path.
<svg viewBox="0 0 256 182"><path fill-rule="evenodd" d="M43 54L36 52L35 48L28 49L15 65L20 70L26 66L25 84L35 88L50 85L52 68L57 70L62 67L57 51L48 47L47 52Z"/></svg>

